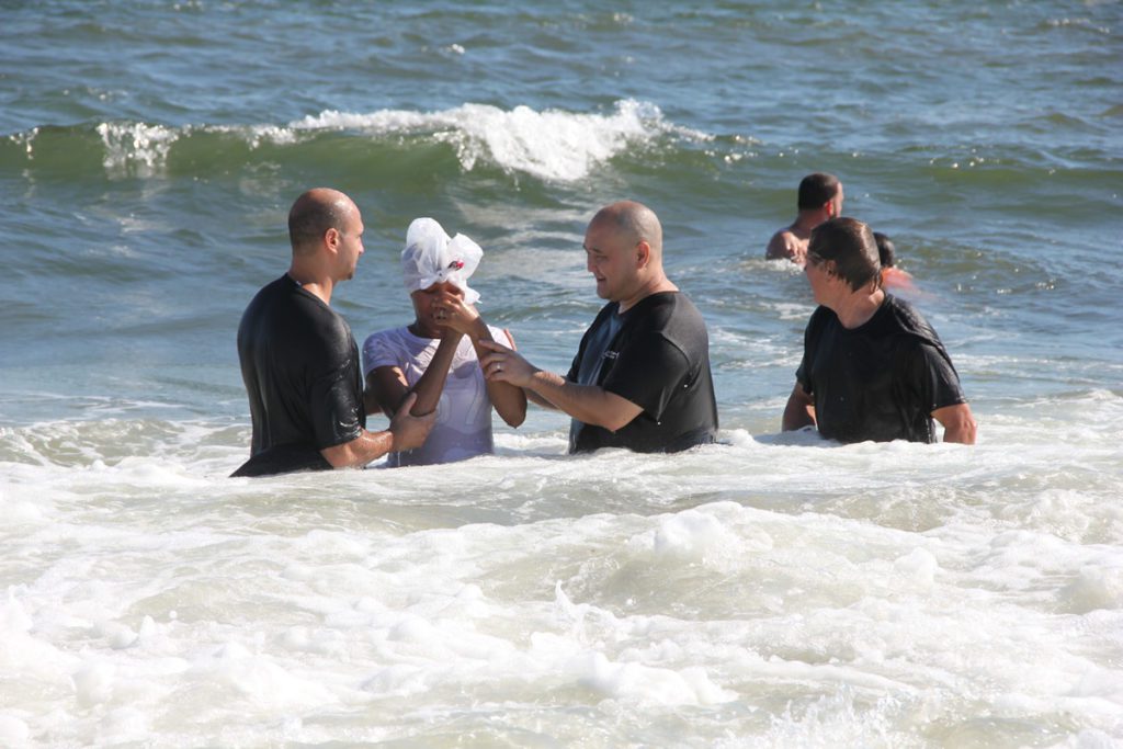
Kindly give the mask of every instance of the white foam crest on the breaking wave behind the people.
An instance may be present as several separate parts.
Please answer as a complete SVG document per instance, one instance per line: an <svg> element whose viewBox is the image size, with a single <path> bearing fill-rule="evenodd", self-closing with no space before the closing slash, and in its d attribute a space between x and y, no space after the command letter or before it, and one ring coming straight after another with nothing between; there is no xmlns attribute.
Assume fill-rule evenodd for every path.
<svg viewBox="0 0 1123 749"><path fill-rule="evenodd" d="M481 158L489 158L508 172L558 182L581 180L632 144L647 143L664 133L705 137L668 126L658 107L633 100L617 102L615 111L610 115L537 111L526 106L503 110L475 103L428 113L380 110L362 115L328 110L290 127L428 134L455 146L460 165L467 171Z"/></svg>

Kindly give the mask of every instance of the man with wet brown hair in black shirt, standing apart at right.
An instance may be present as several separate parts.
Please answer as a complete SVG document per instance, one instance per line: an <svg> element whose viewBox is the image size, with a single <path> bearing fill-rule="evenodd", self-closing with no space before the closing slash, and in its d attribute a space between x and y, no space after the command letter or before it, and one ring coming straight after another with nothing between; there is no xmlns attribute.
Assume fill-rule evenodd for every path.
<svg viewBox="0 0 1123 749"><path fill-rule="evenodd" d="M812 231L804 273L820 307L784 409L785 431L814 426L841 442L975 444L976 423L935 330L882 289L869 227L850 218Z"/></svg>

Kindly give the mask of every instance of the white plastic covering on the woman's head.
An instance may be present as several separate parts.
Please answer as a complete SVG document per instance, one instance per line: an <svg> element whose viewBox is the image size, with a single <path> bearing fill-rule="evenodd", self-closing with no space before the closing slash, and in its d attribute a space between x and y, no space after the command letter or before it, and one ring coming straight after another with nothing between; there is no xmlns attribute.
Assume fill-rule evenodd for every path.
<svg viewBox="0 0 1123 749"><path fill-rule="evenodd" d="M480 245L463 234L449 239L433 219L413 219L402 250L405 287L414 292L448 281L464 292L466 303L475 304L480 294L468 287L468 277L475 273L483 256Z"/></svg>

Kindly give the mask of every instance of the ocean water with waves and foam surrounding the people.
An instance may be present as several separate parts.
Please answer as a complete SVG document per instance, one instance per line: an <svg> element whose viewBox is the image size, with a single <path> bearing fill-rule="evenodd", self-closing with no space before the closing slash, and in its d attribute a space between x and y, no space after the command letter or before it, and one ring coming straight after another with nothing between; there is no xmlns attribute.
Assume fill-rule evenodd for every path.
<svg viewBox="0 0 1123 749"><path fill-rule="evenodd" d="M0 746L1123 745L1123 4L0 2ZM779 432L838 174L979 444ZM360 339L432 216L565 371L632 198L721 444L267 479L235 331L302 190ZM372 427L384 423L372 419Z"/></svg>

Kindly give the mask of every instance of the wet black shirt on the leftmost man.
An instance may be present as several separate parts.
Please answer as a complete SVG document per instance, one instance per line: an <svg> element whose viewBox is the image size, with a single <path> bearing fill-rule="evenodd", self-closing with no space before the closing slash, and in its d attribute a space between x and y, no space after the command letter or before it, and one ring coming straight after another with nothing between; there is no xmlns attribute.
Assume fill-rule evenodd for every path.
<svg viewBox="0 0 1123 749"><path fill-rule="evenodd" d="M363 432L363 377L350 327L287 274L246 308L238 359L254 436L250 459L234 475L327 469L320 450Z"/></svg>

